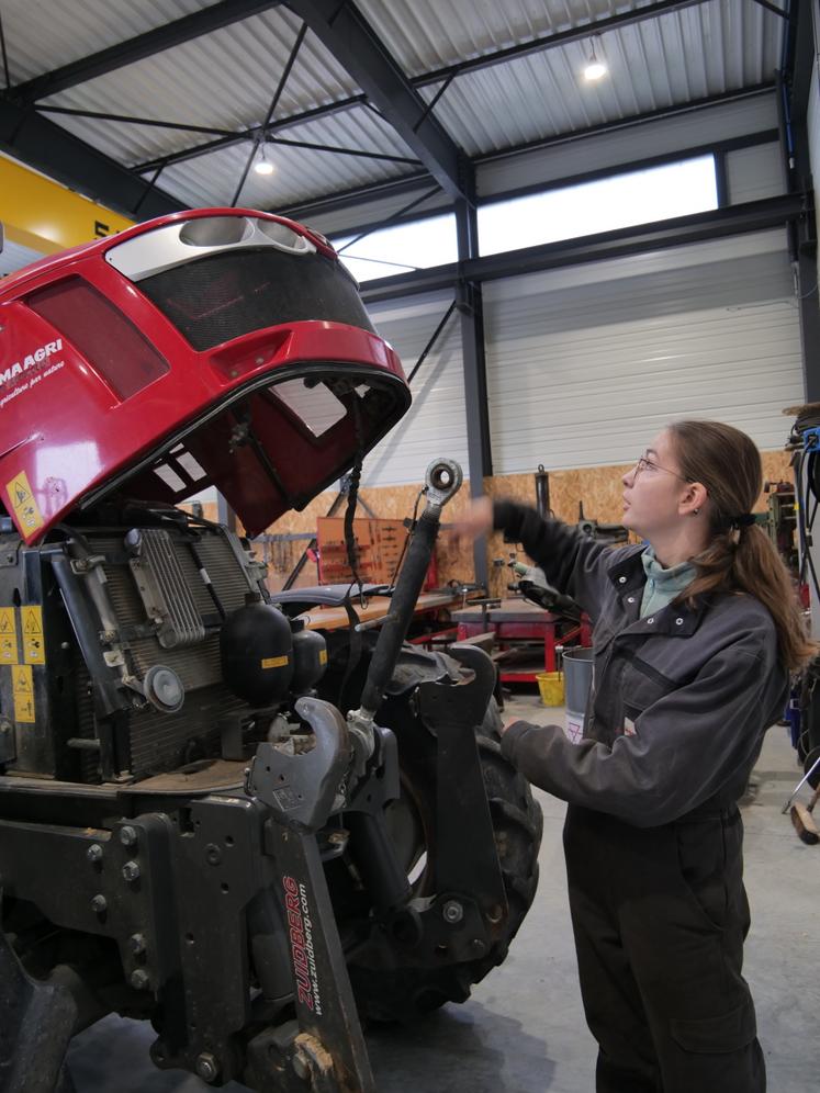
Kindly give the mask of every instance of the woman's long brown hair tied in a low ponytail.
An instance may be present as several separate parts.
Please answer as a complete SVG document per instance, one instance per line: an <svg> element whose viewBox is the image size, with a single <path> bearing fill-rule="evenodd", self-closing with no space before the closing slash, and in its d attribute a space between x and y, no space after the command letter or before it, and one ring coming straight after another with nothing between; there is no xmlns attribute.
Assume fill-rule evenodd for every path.
<svg viewBox="0 0 820 1093"><path fill-rule="evenodd" d="M801 668L817 649L806 636L794 582L765 531L742 519L763 488L754 441L720 421L675 421L669 433L681 474L708 493L711 541L693 559L697 576L685 598L718 591L754 596L774 620L782 662L790 671Z"/></svg>

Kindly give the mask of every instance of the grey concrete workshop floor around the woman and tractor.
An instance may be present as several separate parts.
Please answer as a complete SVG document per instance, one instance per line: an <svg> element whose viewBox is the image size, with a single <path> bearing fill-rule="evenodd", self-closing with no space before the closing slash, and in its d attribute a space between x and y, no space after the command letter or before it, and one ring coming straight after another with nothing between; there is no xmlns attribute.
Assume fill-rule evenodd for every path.
<svg viewBox="0 0 820 1093"><path fill-rule="evenodd" d="M561 723L563 711L516 695L505 719ZM820 845L806 846L780 807L800 777L787 730L775 726L743 807L752 931L746 976L773 1093L817 1089ZM561 850L564 805L538 791L543 809L541 881L505 964L464 1005L448 1005L412 1028L368 1036L379 1093L592 1093L595 1044L584 1024L566 909ZM106 1017L69 1052L77 1093L201 1093L180 1071L148 1059L154 1033ZM240 1093L245 1086L231 1083ZM694 1093L694 1091L693 1091Z"/></svg>

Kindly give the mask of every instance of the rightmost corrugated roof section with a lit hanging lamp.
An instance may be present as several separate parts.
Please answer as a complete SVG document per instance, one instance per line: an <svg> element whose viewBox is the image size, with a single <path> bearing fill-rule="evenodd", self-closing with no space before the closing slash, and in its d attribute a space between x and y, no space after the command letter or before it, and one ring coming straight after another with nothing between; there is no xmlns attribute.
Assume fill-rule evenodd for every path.
<svg viewBox="0 0 820 1093"><path fill-rule="evenodd" d="M478 156L754 87L774 78L782 23L749 0L710 0L602 34L598 82L583 78L591 40L572 42L459 76L436 116Z"/></svg>

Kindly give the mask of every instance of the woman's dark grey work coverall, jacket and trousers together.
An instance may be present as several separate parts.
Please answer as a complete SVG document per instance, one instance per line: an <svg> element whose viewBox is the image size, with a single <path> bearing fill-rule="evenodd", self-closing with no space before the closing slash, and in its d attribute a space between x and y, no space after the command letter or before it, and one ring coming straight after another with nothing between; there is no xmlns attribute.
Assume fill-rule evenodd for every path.
<svg viewBox="0 0 820 1093"><path fill-rule="evenodd" d="M788 675L752 596L639 617L642 546L613 550L533 509L494 522L594 623L584 739L514 723L504 755L568 801L564 848L598 1093L762 1093L741 974L749 904L737 801Z"/></svg>

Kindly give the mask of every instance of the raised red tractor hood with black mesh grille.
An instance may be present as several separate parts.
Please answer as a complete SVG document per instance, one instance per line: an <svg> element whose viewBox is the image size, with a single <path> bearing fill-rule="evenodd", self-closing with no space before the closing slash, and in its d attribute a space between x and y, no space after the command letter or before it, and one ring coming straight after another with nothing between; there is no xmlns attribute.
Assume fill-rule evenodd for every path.
<svg viewBox="0 0 820 1093"><path fill-rule="evenodd" d="M0 282L0 497L29 543L207 486L258 534L408 405L355 280L280 216L177 213Z"/></svg>

